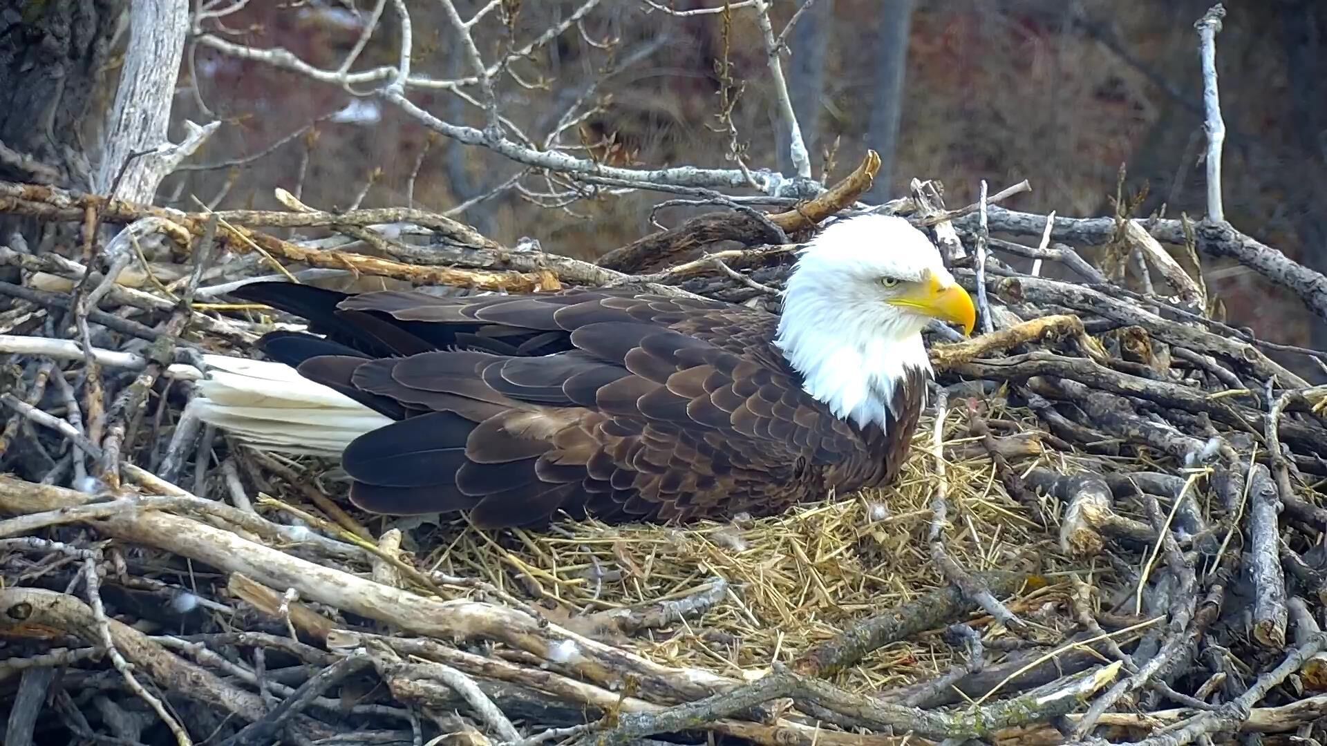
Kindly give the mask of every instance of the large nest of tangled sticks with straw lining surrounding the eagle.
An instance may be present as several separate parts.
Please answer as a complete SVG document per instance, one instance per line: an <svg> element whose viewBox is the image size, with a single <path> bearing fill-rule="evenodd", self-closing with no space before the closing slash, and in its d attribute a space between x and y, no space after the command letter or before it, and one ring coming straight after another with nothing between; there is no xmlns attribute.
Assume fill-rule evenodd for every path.
<svg viewBox="0 0 1327 746"><path fill-rule="evenodd" d="M1026 185L868 207L876 167L593 264L419 210L186 214L0 183L0 210L53 236L0 247L8 742L1314 738L1327 389L1303 370L1327 354L1214 320L1194 268L1233 258L1314 311L1327 280L1225 223L998 206ZM296 323L227 300L256 276L778 309L799 242L865 208L933 235L982 332L928 332L937 381L888 490L482 532L358 515L334 463L187 409L204 353Z"/></svg>

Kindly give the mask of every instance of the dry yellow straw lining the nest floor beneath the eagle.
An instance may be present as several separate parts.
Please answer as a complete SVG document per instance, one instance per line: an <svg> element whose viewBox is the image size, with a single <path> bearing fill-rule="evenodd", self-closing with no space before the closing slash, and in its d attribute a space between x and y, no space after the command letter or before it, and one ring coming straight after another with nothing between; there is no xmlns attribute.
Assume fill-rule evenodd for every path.
<svg viewBox="0 0 1327 746"><path fill-rule="evenodd" d="M933 422L924 418L922 427ZM946 429L951 519L963 531L947 542L950 551L974 571L1040 569L1036 555L1056 551L1054 534L1020 515L985 451L967 447L975 439L962 430L953 417ZM1023 438L1016 445L1036 447ZM750 680L775 661L791 665L800 652L881 608L943 587L926 551L934 478L933 458L918 449L893 488L808 503L780 516L685 528L563 523L507 538L439 530L426 540L437 548L425 564L482 577L544 607L565 628L652 661ZM950 665L949 646L922 636L873 652L835 681L865 693Z"/></svg>

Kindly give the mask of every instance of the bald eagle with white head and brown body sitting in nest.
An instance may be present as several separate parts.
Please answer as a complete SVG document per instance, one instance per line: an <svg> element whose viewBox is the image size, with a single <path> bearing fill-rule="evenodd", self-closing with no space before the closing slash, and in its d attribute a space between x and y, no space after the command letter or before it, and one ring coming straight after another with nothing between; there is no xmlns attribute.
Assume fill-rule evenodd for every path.
<svg viewBox="0 0 1327 746"><path fill-rule="evenodd" d="M486 528L760 516L888 485L932 376L922 328L975 316L925 234L885 215L803 248L780 315L628 289L231 295L309 333L265 335L271 361L211 357L204 422L340 457L365 511Z"/></svg>

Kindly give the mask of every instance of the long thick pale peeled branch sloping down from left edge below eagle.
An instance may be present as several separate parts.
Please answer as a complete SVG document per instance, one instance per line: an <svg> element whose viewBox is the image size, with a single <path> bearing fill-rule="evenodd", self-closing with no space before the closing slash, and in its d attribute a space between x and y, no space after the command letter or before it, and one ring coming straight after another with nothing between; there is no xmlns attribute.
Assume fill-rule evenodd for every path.
<svg viewBox="0 0 1327 746"><path fill-rule="evenodd" d="M92 495L74 490L0 475L0 510L8 512L38 512L90 499ZM97 530L203 561L224 572L247 575L271 588L295 588L303 599L406 632L441 638L482 637L545 660L551 654L559 656L565 665L597 684L618 682L624 676L634 674L641 681L641 694L660 701L698 700L736 685L736 681L722 676L652 662L518 609L468 600L442 601L390 588L178 515L159 511L110 515L97 523Z"/></svg>

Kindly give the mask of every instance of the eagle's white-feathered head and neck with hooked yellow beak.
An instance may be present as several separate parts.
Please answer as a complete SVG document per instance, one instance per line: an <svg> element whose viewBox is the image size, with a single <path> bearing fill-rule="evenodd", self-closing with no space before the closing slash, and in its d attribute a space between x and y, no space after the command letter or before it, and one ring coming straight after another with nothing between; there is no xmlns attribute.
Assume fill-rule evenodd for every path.
<svg viewBox="0 0 1327 746"><path fill-rule="evenodd" d="M800 252L775 344L836 417L885 427L904 376L930 373L922 328L940 319L971 333L975 316L924 232L902 218L861 215Z"/></svg>

